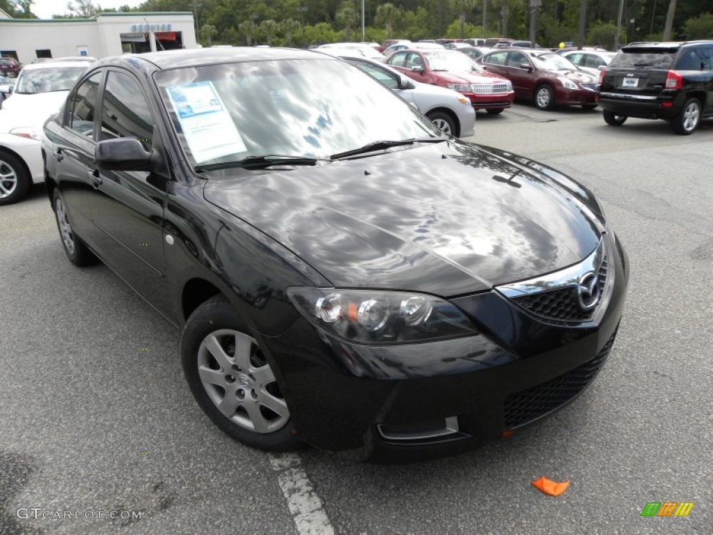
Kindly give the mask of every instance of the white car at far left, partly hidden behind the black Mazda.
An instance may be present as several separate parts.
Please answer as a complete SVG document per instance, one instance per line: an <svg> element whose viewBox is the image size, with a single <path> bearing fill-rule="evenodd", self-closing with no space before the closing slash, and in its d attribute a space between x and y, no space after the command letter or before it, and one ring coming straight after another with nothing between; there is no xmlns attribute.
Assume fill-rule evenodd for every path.
<svg viewBox="0 0 713 535"><path fill-rule="evenodd" d="M90 63L43 61L22 69L0 110L0 205L16 203L43 182L42 125Z"/></svg>

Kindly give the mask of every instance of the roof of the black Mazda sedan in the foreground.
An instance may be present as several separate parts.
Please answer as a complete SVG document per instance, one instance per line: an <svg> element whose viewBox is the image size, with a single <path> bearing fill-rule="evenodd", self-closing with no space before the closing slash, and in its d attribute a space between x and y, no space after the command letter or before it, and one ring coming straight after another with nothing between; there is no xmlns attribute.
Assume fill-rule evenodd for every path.
<svg viewBox="0 0 713 535"><path fill-rule="evenodd" d="M298 49L269 48L258 49L249 46L234 46L230 49L183 49L148 52L146 54L125 54L104 58L101 65L115 65L124 61L147 61L158 68L190 67L211 63L231 63L238 61L266 61L271 59L307 59L327 57L316 56L314 51Z"/></svg>

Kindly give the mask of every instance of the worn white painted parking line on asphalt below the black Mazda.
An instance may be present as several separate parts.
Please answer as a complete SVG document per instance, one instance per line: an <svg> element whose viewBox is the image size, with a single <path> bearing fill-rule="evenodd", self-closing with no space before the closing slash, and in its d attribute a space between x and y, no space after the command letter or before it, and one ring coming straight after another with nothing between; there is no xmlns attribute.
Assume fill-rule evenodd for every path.
<svg viewBox="0 0 713 535"><path fill-rule="evenodd" d="M299 535L334 535L334 528L296 453L268 454Z"/></svg>

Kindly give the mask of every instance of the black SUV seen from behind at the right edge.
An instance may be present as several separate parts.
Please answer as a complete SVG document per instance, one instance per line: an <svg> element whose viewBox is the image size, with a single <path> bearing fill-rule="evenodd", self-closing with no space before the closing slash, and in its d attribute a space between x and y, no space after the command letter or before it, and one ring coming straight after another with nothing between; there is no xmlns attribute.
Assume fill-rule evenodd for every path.
<svg viewBox="0 0 713 535"><path fill-rule="evenodd" d="M713 117L713 41L637 43L621 49L600 76L604 120L666 119L677 134Z"/></svg>

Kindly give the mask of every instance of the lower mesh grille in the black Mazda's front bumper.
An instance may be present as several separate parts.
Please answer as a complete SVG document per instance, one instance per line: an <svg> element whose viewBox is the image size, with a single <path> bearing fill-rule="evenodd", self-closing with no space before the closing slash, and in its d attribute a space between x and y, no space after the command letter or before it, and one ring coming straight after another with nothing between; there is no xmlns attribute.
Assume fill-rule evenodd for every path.
<svg viewBox="0 0 713 535"><path fill-rule="evenodd" d="M616 331L589 362L547 382L510 394L505 400L505 426L514 429L525 425L577 397L602 369L615 336Z"/></svg>

